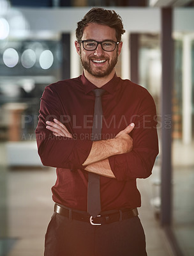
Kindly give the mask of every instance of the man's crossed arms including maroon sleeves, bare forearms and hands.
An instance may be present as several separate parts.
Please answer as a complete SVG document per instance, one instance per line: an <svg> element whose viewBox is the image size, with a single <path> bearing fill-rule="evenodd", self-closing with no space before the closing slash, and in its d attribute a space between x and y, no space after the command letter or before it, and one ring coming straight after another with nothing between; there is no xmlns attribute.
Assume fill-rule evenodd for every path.
<svg viewBox="0 0 194 256"><path fill-rule="evenodd" d="M144 97L142 94L139 96L138 104L134 104L130 108L131 113L127 114L128 120L130 116L136 116L133 119L135 128L128 126L109 140L91 141L75 136L73 125L61 119L61 115L66 115L63 100L54 86L45 88L36 127L38 154L43 165L63 168L64 172L65 169L84 168L87 172L99 173L119 181L149 177L158 154L156 108L148 93ZM46 124L47 120L51 123ZM61 123L57 123L57 120ZM62 123L67 125L61 126Z"/></svg>

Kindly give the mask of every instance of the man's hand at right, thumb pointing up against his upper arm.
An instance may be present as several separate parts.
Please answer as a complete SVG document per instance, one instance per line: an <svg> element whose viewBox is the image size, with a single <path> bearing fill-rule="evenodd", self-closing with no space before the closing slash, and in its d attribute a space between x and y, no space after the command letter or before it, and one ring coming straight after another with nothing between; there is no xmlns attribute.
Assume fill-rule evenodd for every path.
<svg viewBox="0 0 194 256"><path fill-rule="evenodd" d="M130 152L133 148L133 139L129 135L129 133L133 130L135 124L131 123L128 125L123 131L120 131L115 139L117 140L116 147L120 147L120 154L124 154Z"/></svg>

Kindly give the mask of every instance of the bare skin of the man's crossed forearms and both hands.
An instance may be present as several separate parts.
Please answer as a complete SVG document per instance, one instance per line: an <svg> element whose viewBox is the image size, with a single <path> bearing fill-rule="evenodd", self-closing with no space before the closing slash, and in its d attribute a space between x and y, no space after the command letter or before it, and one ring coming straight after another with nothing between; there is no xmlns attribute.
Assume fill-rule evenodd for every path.
<svg viewBox="0 0 194 256"><path fill-rule="evenodd" d="M47 121L47 129L52 131L54 136L72 138L71 133L65 125L54 118L54 122ZM116 178L110 168L108 157L117 154L130 152L133 148L133 140L129 133L133 130L131 123L123 131L120 131L114 139L93 141L91 151L86 161L82 164L87 172L97 173L105 177Z"/></svg>

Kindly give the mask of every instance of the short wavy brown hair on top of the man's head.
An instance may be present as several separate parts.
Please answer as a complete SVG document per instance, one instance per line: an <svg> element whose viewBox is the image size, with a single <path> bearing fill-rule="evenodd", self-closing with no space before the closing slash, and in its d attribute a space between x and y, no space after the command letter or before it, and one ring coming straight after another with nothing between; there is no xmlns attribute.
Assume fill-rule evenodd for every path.
<svg viewBox="0 0 194 256"><path fill-rule="evenodd" d="M123 20L114 10L105 10L103 8L92 8L86 13L84 18L77 22L76 37L78 42L82 40L84 28L89 23L98 23L116 29L117 41L121 41L121 35L125 32L123 29Z"/></svg>

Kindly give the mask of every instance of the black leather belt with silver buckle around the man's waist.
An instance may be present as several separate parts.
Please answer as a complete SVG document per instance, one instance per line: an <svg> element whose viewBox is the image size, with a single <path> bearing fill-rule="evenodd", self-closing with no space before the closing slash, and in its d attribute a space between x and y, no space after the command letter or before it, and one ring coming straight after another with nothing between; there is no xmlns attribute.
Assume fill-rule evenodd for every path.
<svg viewBox="0 0 194 256"><path fill-rule="evenodd" d="M92 216L87 214L87 212L75 211L67 207L62 207L58 204L54 205L54 211L69 218L70 220L86 221L91 223L91 225L108 224L114 221L127 220L134 216L138 216L137 208L102 212L94 219Z"/></svg>

